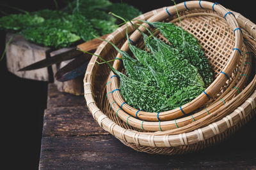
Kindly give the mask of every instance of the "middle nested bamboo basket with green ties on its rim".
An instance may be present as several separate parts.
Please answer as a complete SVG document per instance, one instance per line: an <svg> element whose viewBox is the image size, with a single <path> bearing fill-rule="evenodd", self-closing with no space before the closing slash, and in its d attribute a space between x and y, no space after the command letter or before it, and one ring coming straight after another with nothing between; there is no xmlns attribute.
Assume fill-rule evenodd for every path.
<svg viewBox="0 0 256 170"><path fill-rule="evenodd" d="M138 117L131 117L129 113L126 113L124 110L120 108L120 106L116 103L115 99L113 98L113 93L111 91L111 84L106 83L106 93L108 94L108 102L109 102L109 114L108 116L118 122L118 120L122 120L129 124L129 126L134 127L136 129L140 129L141 131L167 131L170 129L177 129L183 127L185 125L191 124L192 122L200 120L212 112L218 110L223 104L228 103L230 99L237 96L240 92L243 91L244 86L248 83L250 78L250 73L252 66L249 63L252 63L252 57L250 53L246 53L246 46L243 45L244 57L241 60L241 67L239 67L239 71L234 76L232 83L230 83L231 89L226 89L224 92L221 92L221 95L212 103L207 104L207 107L202 108L200 110L194 111L193 114L182 118L177 118L175 120L167 120L167 121L145 121L140 120ZM248 63L248 64L246 64ZM111 81L111 75L109 75L108 82Z"/></svg>

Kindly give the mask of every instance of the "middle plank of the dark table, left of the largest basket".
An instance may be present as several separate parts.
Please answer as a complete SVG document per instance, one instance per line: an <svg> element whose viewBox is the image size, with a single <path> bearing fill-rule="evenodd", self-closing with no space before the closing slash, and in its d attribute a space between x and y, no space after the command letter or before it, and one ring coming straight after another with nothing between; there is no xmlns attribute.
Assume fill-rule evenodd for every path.
<svg viewBox="0 0 256 170"><path fill-rule="evenodd" d="M92 136L109 134L93 119L86 106L45 110L42 136Z"/></svg>

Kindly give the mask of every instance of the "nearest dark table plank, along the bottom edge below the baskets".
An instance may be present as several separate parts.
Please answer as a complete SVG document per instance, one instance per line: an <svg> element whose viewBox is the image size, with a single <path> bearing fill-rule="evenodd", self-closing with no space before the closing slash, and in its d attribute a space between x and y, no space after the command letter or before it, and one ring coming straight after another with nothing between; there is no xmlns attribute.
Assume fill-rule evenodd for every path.
<svg viewBox="0 0 256 170"><path fill-rule="evenodd" d="M220 152L220 150L217 150ZM136 152L111 135L42 139L40 169L255 169L245 152L206 150L170 157Z"/></svg>

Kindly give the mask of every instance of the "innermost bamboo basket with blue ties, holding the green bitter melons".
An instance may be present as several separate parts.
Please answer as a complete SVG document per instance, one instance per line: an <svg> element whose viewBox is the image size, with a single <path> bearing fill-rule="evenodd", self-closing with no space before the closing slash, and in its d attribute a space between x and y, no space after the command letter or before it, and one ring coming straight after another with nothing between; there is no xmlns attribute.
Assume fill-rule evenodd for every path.
<svg viewBox="0 0 256 170"><path fill-rule="evenodd" d="M143 109L133 108L126 103L120 90L116 90L119 89L119 80L116 76L113 76L112 73L111 90L113 91L113 98L119 106L122 106L122 110L129 113L129 115L147 121L174 120L175 118L189 115L189 113L207 104L209 100L214 99L214 97L223 90L223 87L227 87L227 83L232 82L229 78L237 69L237 62L241 58L243 43L243 36L241 31L239 31L239 25L234 15L230 15L230 11L220 4L206 1L201 1L199 4L198 2L199 1L188 1L186 3L177 4L177 10L182 20L183 29L194 34L202 45L212 71L214 71L215 80L202 94L193 99L193 101L174 110L150 113L143 111ZM173 22L179 25L179 19L177 19L175 13L175 6L170 6L161 11L161 13L148 18L148 22L164 20L165 22ZM150 28L148 24L143 25ZM139 27L139 29L145 31L145 28L142 26ZM163 39L161 34L157 36ZM138 44L140 44L142 38L140 32L136 30L131 34L129 39L132 39L133 43L138 42ZM125 41L121 50L129 50L128 41ZM118 53L116 58L120 58L120 53ZM113 67L117 70L121 70L122 61L115 60Z"/></svg>

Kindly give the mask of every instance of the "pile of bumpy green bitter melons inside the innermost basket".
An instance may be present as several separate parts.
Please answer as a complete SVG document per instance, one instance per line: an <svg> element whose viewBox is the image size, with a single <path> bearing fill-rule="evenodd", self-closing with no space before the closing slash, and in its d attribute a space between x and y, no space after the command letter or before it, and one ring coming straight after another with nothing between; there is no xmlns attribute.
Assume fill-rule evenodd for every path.
<svg viewBox="0 0 256 170"><path fill-rule="evenodd" d="M136 26L134 25L134 27ZM168 24L168 27L179 29L174 24ZM138 28L136 27L136 29ZM150 31L148 30L148 32ZM129 48L134 55L134 59L109 42L122 55L127 76L124 74L121 76L113 67L112 71L120 78L120 92L127 104L133 108L148 112L173 110L195 99L211 83L212 73L205 55L187 57L184 56L185 54L188 55L188 53L184 53L184 46L164 43L164 41L153 36L151 32L149 36L143 32L141 34L143 35L145 50L132 45L131 39L129 39L126 32ZM186 41L186 38L188 38L189 42L196 40L189 33L189 36L184 36L183 31L173 34L177 37L182 37L182 41ZM166 39L168 41L172 40L168 37ZM202 51L201 47L194 48L194 46L200 47L198 41L190 43L187 48ZM202 53L204 54L204 52ZM204 61L207 61L204 64L209 69L207 69L208 72L205 71L205 74L209 75L210 79L202 78L202 74L199 72L202 68L196 64L202 62L202 57L205 58ZM129 61L132 62L127 64ZM141 72L137 70L141 70Z"/></svg>

